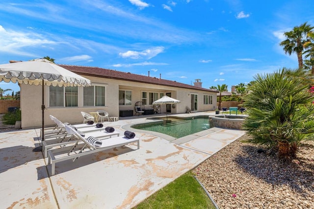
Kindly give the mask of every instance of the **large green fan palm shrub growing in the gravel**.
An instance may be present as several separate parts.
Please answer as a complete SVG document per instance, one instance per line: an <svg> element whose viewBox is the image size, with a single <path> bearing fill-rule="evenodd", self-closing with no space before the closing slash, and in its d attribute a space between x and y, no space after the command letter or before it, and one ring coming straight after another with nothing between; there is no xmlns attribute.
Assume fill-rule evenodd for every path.
<svg viewBox="0 0 314 209"><path fill-rule="evenodd" d="M254 78L244 96L249 116L243 128L252 136L249 141L275 149L279 157L295 157L301 141L313 139L311 75L303 69L282 69Z"/></svg>

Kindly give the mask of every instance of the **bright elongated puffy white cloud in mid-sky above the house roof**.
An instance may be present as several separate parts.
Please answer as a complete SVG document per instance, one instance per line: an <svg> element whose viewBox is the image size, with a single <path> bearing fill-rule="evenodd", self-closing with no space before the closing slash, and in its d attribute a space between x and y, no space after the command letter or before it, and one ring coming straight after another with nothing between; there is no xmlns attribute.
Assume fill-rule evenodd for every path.
<svg viewBox="0 0 314 209"><path fill-rule="evenodd" d="M131 58L131 59L151 59L155 56L157 56L157 54L163 52L164 47L163 46L157 46L157 47L153 47L150 49L146 49L143 51L127 51L127 52L120 52L119 55L122 58Z"/></svg>

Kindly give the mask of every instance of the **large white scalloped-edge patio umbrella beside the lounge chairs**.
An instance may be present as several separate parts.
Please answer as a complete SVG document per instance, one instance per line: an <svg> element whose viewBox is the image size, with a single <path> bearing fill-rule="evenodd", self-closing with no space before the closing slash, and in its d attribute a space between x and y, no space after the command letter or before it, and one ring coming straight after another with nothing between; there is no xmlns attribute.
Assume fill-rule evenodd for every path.
<svg viewBox="0 0 314 209"><path fill-rule="evenodd" d="M0 65L0 82L42 85L42 140L44 139L44 86L90 86L91 81L46 59ZM35 150L36 149L36 150ZM34 151L41 151L36 147Z"/></svg>

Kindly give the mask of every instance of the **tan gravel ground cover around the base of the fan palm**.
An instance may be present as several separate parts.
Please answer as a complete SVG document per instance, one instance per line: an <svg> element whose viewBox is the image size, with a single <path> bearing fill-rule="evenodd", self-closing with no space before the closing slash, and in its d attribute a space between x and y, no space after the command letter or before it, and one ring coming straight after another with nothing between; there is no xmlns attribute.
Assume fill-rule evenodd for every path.
<svg viewBox="0 0 314 209"><path fill-rule="evenodd" d="M220 209L314 209L314 141L292 162L244 143L244 135L193 172ZM258 150L260 150L258 152Z"/></svg>

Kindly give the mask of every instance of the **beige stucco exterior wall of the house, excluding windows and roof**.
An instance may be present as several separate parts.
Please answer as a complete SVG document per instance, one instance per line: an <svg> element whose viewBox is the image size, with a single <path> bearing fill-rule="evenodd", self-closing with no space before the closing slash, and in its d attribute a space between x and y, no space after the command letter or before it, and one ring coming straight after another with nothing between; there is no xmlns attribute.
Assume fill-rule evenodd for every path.
<svg viewBox="0 0 314 209"><path fill-rule="evenodd" d="M65 108L53 108L49 107L49 87L45 87L45 125L54 125L49 115L57 117L62 122L79 123L83 121L83 117L80 112L96 112L97 110L105 110L109 116L119 116L119 110L133 110L134 104L137 101L141 101L141 92L157 92L157 93L171 93L173 98L181 101L176 105L176 108L171 108L171 113L185 113L186 106L190 107L191 98L190 94L198 93L198 111L213 110L215 105L204 105L203 95L211 94L213 101L216 101L216 93L210 93L206 91L191 91L189 89L181 89L176 87L159 86L154 84L146 84L131 81L122 81L114 79L105 79L98 77L84 76L92 81L93 84L105 85L106 98L105 107L82 107L82 99L79 97L79 107L65 107ZM132 91L132 105L119 106L119 90ZM78 94L82 92L82 89L78 89ZM80 100L81 99L81 100ZM42 124L42 87L32 85L21 85L21 110L22 110L22 128L40 127ZM147 105L147 107L153 107ZM161 106L161 113L166 112L166 106Z"/></svg>

